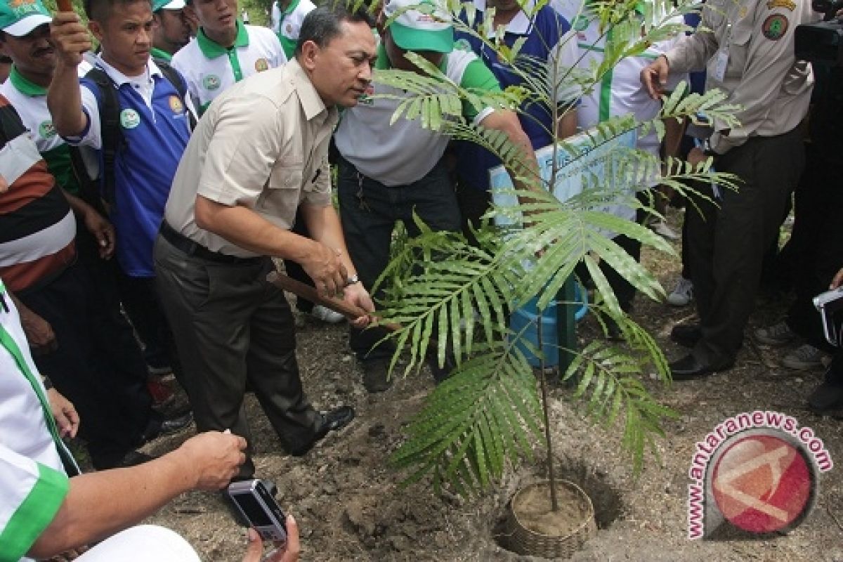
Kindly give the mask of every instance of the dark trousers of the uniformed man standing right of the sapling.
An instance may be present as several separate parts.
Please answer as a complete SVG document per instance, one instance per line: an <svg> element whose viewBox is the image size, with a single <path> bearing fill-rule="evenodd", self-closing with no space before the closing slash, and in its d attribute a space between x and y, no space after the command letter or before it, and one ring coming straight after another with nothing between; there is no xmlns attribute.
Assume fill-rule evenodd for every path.
<svg viewBox="0 0 843 562"><path fill-rule="evenodd" d="M778 236L803 164L799 131L752 137L714 164L741 179L738 191L722 189L719 206L697 198L701 213L688 206L687 251L702 329L693 353L710 367L731 366L744 341L764 254ZM698 189L712 195L711 185Z"/></svg>

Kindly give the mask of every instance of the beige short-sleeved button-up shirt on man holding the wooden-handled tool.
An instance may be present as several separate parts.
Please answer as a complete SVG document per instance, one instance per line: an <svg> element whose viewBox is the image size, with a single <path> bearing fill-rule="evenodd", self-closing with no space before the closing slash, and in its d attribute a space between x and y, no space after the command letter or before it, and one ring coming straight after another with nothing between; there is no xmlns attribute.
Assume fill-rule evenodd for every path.
<svg viewBox="0 0 843 562"><path fill-rule="evenodd" d="M191 136L164 219L207 249L254 257L196 226L196 195L247 207L289 230L299 204L331 204L328 143L336 120L336 108L325 107L296 60L228 88Z"/></svg>

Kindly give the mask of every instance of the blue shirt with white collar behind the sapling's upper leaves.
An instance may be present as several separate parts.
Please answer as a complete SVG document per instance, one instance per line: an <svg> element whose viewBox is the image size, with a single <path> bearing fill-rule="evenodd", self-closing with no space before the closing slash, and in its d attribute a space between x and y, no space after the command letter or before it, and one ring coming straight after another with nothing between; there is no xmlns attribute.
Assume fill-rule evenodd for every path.
<svg viewBox="0 0 843 562"><path fill-rule="evenodd" d="M486 0L475 0L474 4L477 9L475 14L475 26L477 26L484 21ZM528 3L527 9L532 8L532 5L533 3ZM468 23L464 12L460 14L460 19ZM561 61L560 67L573 67L577 62L576 41L569 40L566 43L562 40L562 36L568 29L571 29L571 25L550 6L541 8L534 14L533 19L529 19L524 11L521 11L507 25L503 43L512 47L515 41L524 37L526 41L519 51L519 58L524 56L534 60L548 61L551 54L555 54ZM455 48L474 51L486 63L501 83L502 89L522 83L518 74L512 72L506 62L498 61L495 51L479 38L464 31L457 31L454 39ZM560 101L576 98L577 95L573 91L560 95ZM524 132L529 136L533 148L546 147L553 142L552 131L555 131L556 127L553 126L553 114L547 104L527 101L521 110L529 114L528 116L519 113L518 119L521 121ZM470 187L488 190L489 169L499 166L501 160L473 142L459 142L456 150L459 157L457 173L460 182Z"/></svg>

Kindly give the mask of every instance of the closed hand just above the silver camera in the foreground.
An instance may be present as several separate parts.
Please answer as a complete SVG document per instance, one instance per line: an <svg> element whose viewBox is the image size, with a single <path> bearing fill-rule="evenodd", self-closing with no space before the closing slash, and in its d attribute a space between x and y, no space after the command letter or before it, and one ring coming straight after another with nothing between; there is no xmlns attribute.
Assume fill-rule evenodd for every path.
<svg viewBox="0 0 843 562"><path fill-rule="evenodd" d="M246 440L241 436L206 431L185 441L175 452L185 458L185 465L196 474L193 488L220 490L246 461L245 448Z"/></svg>

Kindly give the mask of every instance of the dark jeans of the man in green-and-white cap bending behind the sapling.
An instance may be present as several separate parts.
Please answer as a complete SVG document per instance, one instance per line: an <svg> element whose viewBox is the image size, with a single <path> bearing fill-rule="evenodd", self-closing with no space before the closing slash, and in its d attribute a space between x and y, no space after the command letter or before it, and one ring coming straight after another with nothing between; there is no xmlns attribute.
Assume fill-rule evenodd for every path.
<svg viewBox="0 0 843 562"><path fill-rule="evenodd" d="M337 190L342 232L348 253L363 286L371 289L389 263L392 232L398 221L410 236L419 231L415 212L432 230L459 231L460 217L454 186L440 161L423 178L410 185L388 187L368 178L345 159L340 160ZM374 297L381 297L376 292ZM391 342L378 342L384 329L351 328L349 343L360 360L383 360L392 355Z"/></svg>

